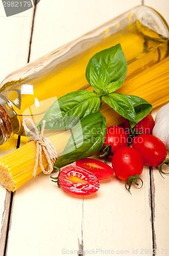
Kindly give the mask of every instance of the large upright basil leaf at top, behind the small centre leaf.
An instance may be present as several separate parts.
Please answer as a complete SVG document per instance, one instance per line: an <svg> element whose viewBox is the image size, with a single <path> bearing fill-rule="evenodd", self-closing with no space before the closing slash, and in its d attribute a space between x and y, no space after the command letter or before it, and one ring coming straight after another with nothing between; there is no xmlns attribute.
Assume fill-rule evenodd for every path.
<svg viewBox="0 0 169 256"><path fill-rule="evenodd" d="M125 79L127 74L127 61L120 44L96 53L89 60L86 69L86 78L89 83L90 69L93 59L99 62L99 64L107 70L111 82Z"/></svg>

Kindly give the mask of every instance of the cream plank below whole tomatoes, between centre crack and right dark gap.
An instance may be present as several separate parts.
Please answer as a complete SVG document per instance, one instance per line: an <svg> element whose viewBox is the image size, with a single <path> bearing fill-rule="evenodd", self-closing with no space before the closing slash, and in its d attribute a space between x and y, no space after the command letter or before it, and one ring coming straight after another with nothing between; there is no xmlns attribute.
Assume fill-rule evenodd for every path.
<svg viewBox="0 0 169 256"><path fill-rule="evenodd" d="M98 249L101 255L138 255L142 248L152 249L151 202L149 169L144 168L144 186L131 187L130 195L124 182L112 176L103 180L96 195L84 198L83 244L85 250ZM100 251L99 251L100 250ZM112 253L110 253L112 254ZM120 254L120 253L119 253Z"/></svg>

